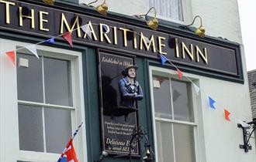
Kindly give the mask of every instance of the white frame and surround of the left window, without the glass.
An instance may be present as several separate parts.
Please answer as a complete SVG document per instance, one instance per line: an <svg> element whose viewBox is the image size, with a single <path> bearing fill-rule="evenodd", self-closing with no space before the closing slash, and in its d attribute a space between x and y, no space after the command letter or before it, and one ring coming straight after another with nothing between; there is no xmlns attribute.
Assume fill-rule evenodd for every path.
<svg viewBox="0 0 256 162"><path fill-rule="evenodd" d="M0 57L0 155L2 155L0 156L0 161L16 162L17 160L21 160L50 162L57 161L61 154L19 150L18 102L29 105L38 105L38 103L18 100L17 70L16 67L12 65L12 62L10 62L8 56L5 55L5 52L15 50L19 46L25 47L31 45L33 44L12 41L9 39L0 39L0 52L2 54ZM75 109L75 111L71 111L72 132L78 127L81 121L84 122L77 137L74 138L74 148L78 155L78 160L87 161L82 54L81 52L72 50L40 45L36 45L36 49L38 49L37 51L39 54L43 53L44 56L71 61L73 106L61 106L61 108L70 110ZM27 51L24 49L20 50L23 53ZM48 104L43 105L54 106ZM66 143L63 143L63 149L65 146Z"/></svg>

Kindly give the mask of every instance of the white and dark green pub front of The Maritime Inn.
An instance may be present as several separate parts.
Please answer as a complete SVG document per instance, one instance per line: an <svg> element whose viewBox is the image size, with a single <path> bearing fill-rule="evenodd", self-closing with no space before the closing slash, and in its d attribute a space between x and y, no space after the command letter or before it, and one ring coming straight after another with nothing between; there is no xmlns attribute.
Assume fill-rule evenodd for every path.
<svg viewBox="0 0 256 162"><path fill-rule="evenodd" d="M118 6L0 1L0 161L57 161L83 123L79 162L254 162L239 38L196 35L188 15L150 29Z"/></svg>

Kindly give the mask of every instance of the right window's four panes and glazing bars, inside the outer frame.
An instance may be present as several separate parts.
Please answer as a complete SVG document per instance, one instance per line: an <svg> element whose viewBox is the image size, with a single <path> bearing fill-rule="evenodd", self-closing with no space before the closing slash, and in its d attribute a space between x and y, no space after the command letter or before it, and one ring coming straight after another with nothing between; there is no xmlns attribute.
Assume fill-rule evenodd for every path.
<svg viewBox="0 0 256 162"><path fill-rule="evenodd" d="M151 72L157 161L195 162L192 86L170 73Z"/></svg>

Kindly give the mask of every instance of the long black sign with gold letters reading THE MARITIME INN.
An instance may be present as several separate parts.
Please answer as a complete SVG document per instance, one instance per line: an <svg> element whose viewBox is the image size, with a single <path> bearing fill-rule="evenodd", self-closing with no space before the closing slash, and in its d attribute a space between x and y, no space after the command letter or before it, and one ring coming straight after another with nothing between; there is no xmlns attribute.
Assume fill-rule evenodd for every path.
<svg viewBox="0 0 256 162"><path fill-rule="evenodd" d="M44 37L73 31L75 43L130 52L151 59L159 59L157 54L161 53L172 62L188 66L186 69L198 73L243 80L238 45L175 35L170 30L153 31L130 25L130 22L114 22L108 17L101 19L54 7L1 0L0 30ZM89 26L92 38L81 29L82 25Z"/></svg>

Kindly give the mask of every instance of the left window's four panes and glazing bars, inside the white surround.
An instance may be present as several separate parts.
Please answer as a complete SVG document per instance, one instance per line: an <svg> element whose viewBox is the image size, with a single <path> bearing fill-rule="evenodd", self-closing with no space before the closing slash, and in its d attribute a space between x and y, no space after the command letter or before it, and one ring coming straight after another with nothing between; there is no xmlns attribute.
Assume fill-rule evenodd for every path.
<svg viewBox="0 0 256 162"><path fill-rule="evenodd" d="M60 154L71 137L71 61L17 53L19 149ZM61 136L60 136L61 134Z"/></svg>

